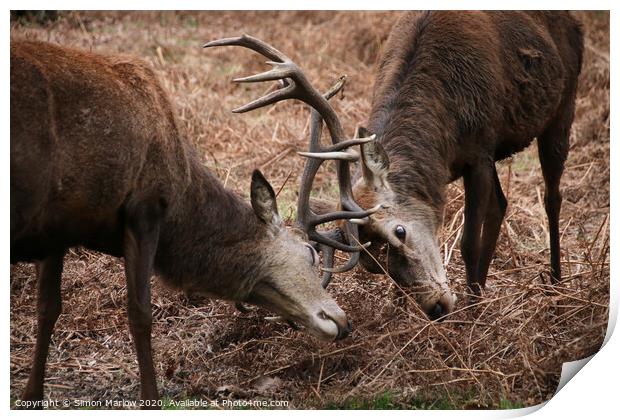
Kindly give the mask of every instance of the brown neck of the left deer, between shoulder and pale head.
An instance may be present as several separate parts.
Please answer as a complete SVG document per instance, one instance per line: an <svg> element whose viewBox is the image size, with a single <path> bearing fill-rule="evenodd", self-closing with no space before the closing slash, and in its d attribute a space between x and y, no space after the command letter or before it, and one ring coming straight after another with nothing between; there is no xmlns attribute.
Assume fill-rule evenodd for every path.
<svg viewBox="0 0 620 420"><path fill-rule="evenodd" d="M251 206L196 159L161 228L155 268L186 291L240 300L259 277L264 229Z"/></svg>

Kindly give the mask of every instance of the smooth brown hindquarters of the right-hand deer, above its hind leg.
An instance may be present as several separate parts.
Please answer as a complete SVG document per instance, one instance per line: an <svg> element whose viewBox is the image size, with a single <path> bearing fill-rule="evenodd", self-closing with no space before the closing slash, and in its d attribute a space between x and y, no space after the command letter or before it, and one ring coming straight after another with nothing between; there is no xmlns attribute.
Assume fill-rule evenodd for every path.
<svg viewBox="0 0 620 420"><path fill-rule="evenodd" d="M550 123L572 120L583 54L581 26L568 12L513 13L493 14L508 81L497 160L521 151Z"/></svg>

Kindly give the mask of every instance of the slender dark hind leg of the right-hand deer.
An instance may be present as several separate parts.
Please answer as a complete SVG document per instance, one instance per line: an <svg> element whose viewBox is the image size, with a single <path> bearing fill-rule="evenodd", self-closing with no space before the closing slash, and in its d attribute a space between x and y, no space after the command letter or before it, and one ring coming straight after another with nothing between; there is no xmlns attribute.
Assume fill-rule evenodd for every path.
<svg viewBox="0 0 620 420"><path fill-rule="evenodd" d="M549 247L551 250L551 281L562 279L560 268L560 208L562 194L560 179L564 172L564 162L568 156L570 126L573 120L572 109L563 118L554 121L538 137L538 157L545 179L545 211L549 221Z"/></svg>

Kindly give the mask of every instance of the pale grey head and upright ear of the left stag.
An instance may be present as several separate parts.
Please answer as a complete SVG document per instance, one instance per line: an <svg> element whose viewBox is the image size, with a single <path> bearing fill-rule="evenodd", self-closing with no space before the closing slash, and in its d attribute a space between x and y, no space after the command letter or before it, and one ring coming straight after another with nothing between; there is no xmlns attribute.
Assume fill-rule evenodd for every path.
<svg viewBox="0 0 620 420"><path fill-rule="evenodd" d="M267 257L245 301L303 325L317 338L346 337L351 323L321 287L317 252L303 231L286 228L278 215L275 193L258 170L252 175L251 203L265 232L253 246Z"/></svg>

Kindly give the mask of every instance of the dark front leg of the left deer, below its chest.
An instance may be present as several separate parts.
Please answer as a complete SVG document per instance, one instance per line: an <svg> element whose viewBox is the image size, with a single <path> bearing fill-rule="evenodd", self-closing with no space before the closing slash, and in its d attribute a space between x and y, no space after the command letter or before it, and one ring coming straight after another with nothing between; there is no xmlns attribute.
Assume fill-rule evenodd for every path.
<svg viewBox="0 0 620 420"><path fill-rule="evenodd" d="M150 277L159 239L159 220L150 212L128 217L123 250L127 278L127 314L140 367L140 395L143 400L157 400L157 381L151 350ZM143 408L158 408L149 404Z"/></svg>

